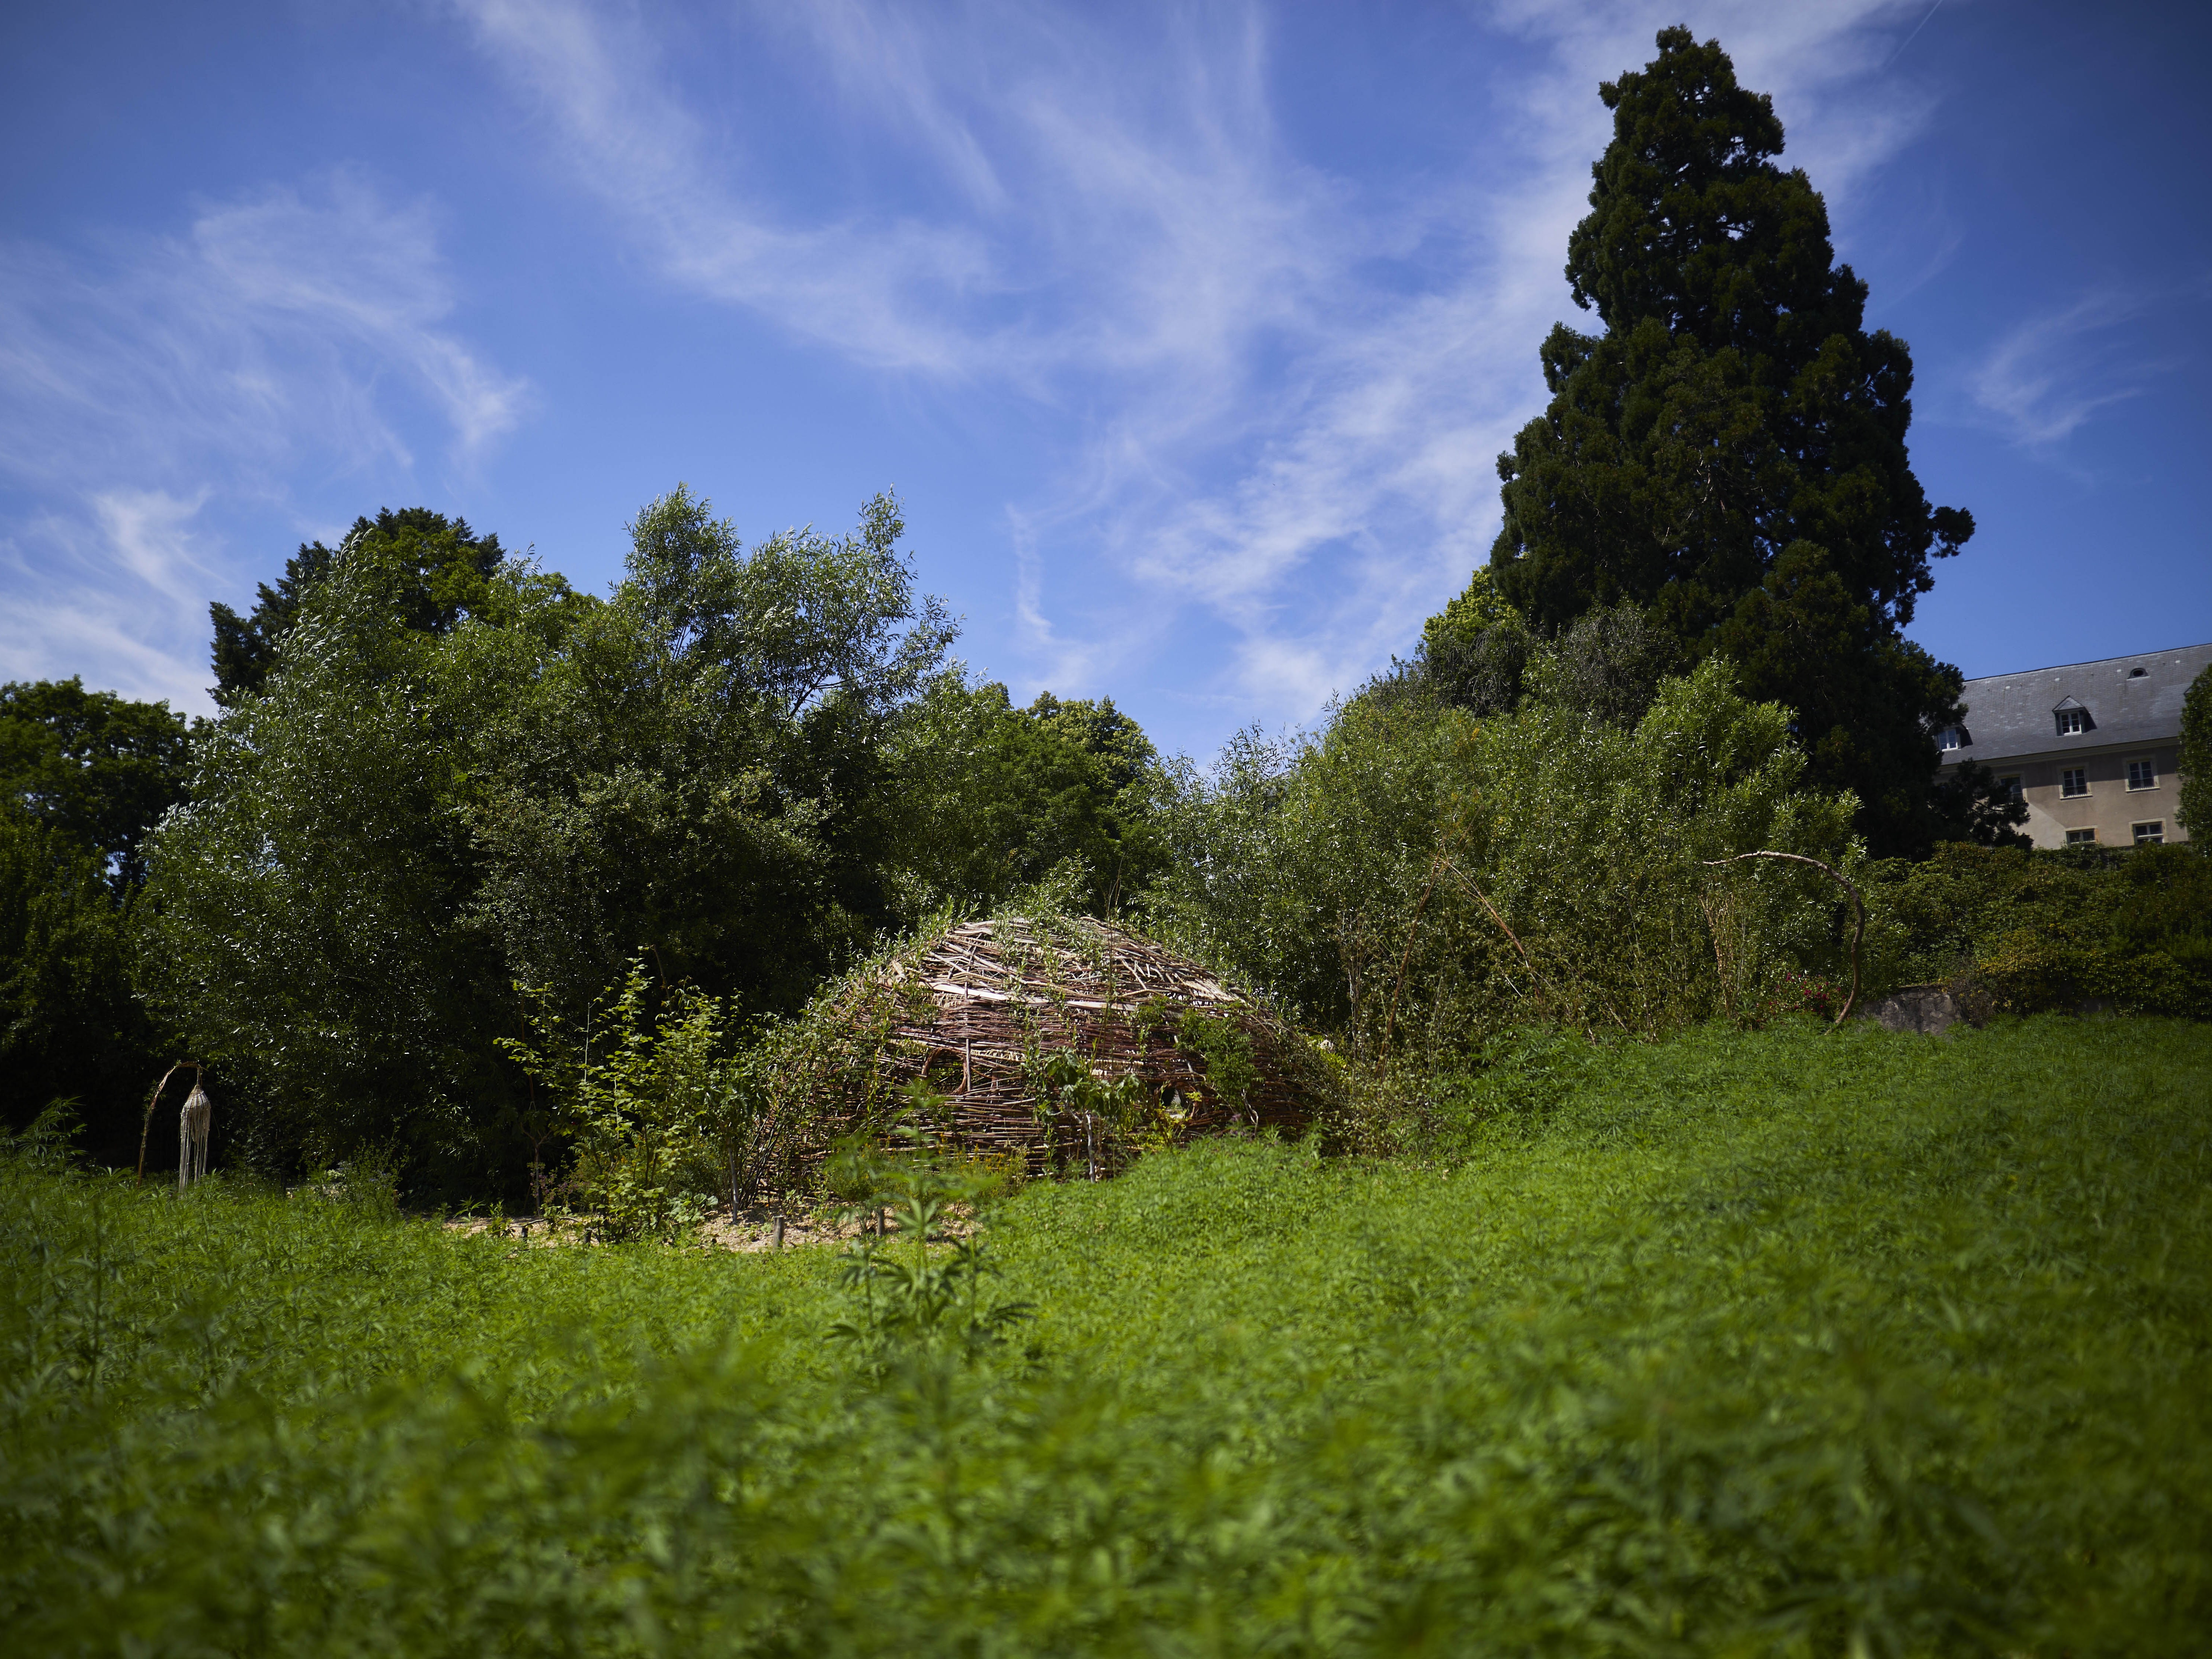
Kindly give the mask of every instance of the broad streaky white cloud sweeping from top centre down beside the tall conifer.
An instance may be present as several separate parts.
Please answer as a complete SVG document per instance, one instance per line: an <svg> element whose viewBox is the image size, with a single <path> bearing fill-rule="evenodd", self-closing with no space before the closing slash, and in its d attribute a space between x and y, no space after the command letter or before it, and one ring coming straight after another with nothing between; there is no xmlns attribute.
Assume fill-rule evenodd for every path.
<svg viewBox="0 0 2212 1659"><path fill-rule="evenodd" d="M1916 0L1498 0L1469 22L1511 55L1467 88L1491 115L1480 142L1418 188L1376 190L1285 137L1256 4L982 0L922 22L825 0L739 13L739 40L783 53L779 73L856 135L801 144L902 166L896 188L799 197L706 113L641 13L460 9L666 281L1060 422L1057 469L1009 515L1037 679L1141 670L1194 606L1232 641L1199 695L1239 719L1312 712L1484 555L1493 456L1542 398L1537 341L1571 314L1566 232L1608 133L1595 84L1646 62L1661 24L1688 11L1774 91L1790 159L1845 230L1927 115L1878 75Z"/></svg>

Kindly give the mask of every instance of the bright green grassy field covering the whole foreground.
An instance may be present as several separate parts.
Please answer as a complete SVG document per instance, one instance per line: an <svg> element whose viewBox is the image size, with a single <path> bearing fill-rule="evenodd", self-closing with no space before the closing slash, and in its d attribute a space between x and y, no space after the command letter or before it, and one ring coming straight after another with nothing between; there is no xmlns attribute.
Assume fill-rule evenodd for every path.
<svg viewBox="0 0 2212 1659"><path fill-rule="evenodd" d="M1031 1186L880 1371L832 1250L0 1161L9 1652L2183 1655L2212 1029L1533 1046L1449 1161Z"/></svg>

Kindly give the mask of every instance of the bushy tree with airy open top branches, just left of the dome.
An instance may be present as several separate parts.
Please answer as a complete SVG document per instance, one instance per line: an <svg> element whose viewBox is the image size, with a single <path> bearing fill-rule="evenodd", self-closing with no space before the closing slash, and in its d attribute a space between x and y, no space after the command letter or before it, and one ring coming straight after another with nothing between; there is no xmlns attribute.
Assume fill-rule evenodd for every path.
<svg viewBox="0 0 2212 1659"><path fill-rule="evenodd" d="M469 916L580 1011L646 947L668 982L796 1009L894 920L887 745L953 635L898 502L745 549L684 489L630 526L557 650L456 657L478 708Z"/></svg>

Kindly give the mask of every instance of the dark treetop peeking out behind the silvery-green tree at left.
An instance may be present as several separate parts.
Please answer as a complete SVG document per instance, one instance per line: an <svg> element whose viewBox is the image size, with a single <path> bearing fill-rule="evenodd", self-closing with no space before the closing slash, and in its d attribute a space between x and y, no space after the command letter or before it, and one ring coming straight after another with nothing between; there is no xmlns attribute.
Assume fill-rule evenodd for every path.
<svg viewBox="0 0 2212 1659"><path fill-rule="evenodd" d="M299 617L307 588L321 582L343 555L378 557L405 573L398 622L425 633L445 633L462 615L482 608L491 573L507 551L498 535L476 535L469 520L447 520L427 507L378 509L376 518L356 518L354 529L336 549L301 542L283 564L276 586L259 584L257 604L239 615L228 604L210 604L215 622L215 686L210 695L223 708L237 708L241 697L259 692L276 666L276 641Z"/></svg>

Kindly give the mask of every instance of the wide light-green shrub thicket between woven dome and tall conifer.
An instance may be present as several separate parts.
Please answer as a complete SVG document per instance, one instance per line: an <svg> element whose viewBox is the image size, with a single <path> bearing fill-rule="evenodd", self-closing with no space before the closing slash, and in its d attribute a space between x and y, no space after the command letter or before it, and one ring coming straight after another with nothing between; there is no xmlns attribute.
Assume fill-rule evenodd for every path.
<svg viewBox="0 0 2212 1659"><path fill-rule="evenodd" d="M1818 874L1717 867L1858 858L1851 801L1807 787L1787 710L1721 659L1648 697L1593 659L1537 650L1522 703L1480 721L1400 684L1301 748L1241 739L1188 783L1152 914L1363 1055L1526 1020L1754 1020L1787 971L1836 971ZM1606 695L1632 719L1593 714Z"/></svg>

